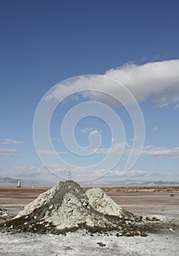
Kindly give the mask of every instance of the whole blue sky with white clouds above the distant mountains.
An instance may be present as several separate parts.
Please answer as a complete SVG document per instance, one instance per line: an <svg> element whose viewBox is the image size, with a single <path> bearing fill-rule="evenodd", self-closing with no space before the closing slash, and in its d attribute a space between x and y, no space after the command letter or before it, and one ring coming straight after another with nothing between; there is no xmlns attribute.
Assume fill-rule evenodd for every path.
<svg viewBox="0 0 179 256"><path fill-rule="evenodd" d="M0 5L0 178L179 181L178 1Z"/></svg>

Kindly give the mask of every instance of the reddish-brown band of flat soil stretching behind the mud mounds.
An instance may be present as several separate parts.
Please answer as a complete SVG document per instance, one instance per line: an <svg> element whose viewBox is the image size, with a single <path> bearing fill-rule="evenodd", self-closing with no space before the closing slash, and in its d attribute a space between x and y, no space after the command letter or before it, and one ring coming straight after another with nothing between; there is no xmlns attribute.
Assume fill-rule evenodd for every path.
<svg viewBox="0 0 179 256"><path fill-rule="evenodd" d="M0 187L0 207L23 207L25 204L34 200L39 194L47 191L49 188L16 188L16 187ZM114 189L112 189L114 190ZM153 208L164 206L170 208L171 206L179 206L178 190L167 191L162 189L162 192L127 192L127 188L123 191L106 192L110 195L116 203L123 206L127 210L141 210L142 208ZM174 193L171 193L174 192ZM170 195L174 195L170 197Z"/></svg>

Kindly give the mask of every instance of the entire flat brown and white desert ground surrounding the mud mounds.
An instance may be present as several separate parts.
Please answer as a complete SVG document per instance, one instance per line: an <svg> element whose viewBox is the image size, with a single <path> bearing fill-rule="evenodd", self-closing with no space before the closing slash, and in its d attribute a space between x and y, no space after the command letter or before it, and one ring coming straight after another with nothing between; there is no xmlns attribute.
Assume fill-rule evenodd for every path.
<svg viewBox="0 0 179 256"><path fill-rule="evenodd" d="M0 187L0 208L7 210L0 221L15 216L46 190ZM146 237L117 237L115 232L90 234L85 230L58 236L0 230L0 255L178 255L179 188L104 190L126 210L160 221L140 224Z"/></svg>

